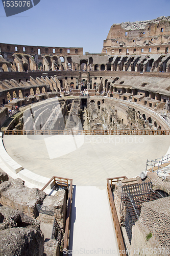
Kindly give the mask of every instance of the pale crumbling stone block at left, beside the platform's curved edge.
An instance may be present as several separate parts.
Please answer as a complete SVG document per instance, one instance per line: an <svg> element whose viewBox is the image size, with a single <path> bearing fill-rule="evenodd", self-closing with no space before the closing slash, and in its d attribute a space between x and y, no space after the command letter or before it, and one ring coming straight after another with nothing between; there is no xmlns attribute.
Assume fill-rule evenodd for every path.
<svg viewBox="0 0 170 256"><path fill-rule="evenodd" d="M21 179L3 182L0 185L0 195L2 205L8 205L34 217L37 213L35 204L41 204L45 198L43 191L26 187Z"/></svg>

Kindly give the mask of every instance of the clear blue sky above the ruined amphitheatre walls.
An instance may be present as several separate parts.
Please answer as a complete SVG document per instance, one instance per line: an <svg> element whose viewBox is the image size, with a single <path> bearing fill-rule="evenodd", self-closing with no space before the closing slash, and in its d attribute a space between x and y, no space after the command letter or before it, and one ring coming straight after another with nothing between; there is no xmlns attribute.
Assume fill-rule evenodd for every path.
<svg viewBox="0 0 170 256"><path fill-rule="evenodd" d="M170 0L41 0L10 17L1 1L0 42L83 47L84 53L101 53L112 24L160 16L170 16Z"/></svg>

